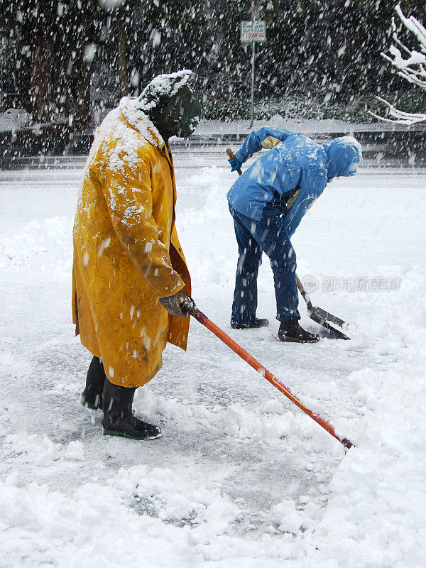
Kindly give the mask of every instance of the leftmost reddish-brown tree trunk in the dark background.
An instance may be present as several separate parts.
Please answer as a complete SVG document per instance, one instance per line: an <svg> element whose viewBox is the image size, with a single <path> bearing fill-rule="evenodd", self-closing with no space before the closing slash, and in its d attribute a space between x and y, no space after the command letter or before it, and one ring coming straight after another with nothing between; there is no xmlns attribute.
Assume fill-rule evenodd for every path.
<svg viewBox="0 0 426 568"><path fill-rule="evenodd" d="M33 72L31 75L31 109L33 121L49 122L52 109L52 49L43 32L38 33L33 50Z"/></svg>

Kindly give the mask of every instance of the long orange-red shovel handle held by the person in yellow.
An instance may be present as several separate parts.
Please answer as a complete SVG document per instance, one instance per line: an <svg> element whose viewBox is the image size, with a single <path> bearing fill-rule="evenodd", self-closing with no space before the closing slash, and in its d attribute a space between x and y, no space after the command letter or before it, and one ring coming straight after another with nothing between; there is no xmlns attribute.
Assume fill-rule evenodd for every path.
<svg viewBox="0 0 426 568"><path fill-rule="evenodd" d="M303 405L300 402L300 400L297 400L295 395L291 393L290 388L286 387L283 383L278 381L278 378L276 378L270 371L268 371L267 368L265 368L258 361L256 361L256 359L254 359L254 357L252 357L249 353L247 353L247 351L245 351L238 343L234 342L234 339L231 339L229 335L226 335L226 333L223 332L222 329L217 327L216 324L214 324L211 320L209 320L207 315L204 315L202 312L200 312L200 310L198 310L197 306L195 305L194 300L192 300L192 304L190 306L185 307L185 311L189 315L192 315L192 317L194 317L195 320L197 320L197 322L200 322L200 324L204 325L204 327L207 327L209 331L211 331L212 333L214 333L214 335L219 337L219 339L221 339L222 342L224 342L224 344L230 347L232 351L234 351L237 355L241 357L241 359L244 359L244 361L246 361L246 363L252 366L255 371L260 373L261 376L265 377L266 380L271 383L271 385L275 386L275 388L278 388L278 391L285 394L285 396L288 399L290 399L292 403L298 406L300 410L303 410L303 412L308 416L310 416L312 420L315 420L315 422L317 422L317 424L322 426L324 430L327 430L327 432L331 434L332 437L339 440L339 442L343 444L345 448L349 449L354 445L351 442L349 442L349 439L339 437L339 435L337 435L336 432L334 431L334 427L332 427L332 425L329 422L327 422L327 420L324 420L324 418L318 416L317 414L314 414L312 410L306 408L306 406Z"/></svg>

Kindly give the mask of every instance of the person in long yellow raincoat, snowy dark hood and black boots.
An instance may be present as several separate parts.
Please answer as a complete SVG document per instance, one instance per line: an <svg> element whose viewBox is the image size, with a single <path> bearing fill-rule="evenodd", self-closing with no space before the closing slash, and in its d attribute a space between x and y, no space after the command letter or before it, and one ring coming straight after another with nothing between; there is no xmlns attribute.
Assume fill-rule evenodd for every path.
<svg viewBox="0 0 426 568"><path fill-rule="evenodd" d="M189 136L200 109L183 70L124 97L94 136L74 224L72 314L93 354L82 404L102 408L104 434L152 439L132 413L136 388L186 349L190 274L175 229L170 136Z"/></svg>

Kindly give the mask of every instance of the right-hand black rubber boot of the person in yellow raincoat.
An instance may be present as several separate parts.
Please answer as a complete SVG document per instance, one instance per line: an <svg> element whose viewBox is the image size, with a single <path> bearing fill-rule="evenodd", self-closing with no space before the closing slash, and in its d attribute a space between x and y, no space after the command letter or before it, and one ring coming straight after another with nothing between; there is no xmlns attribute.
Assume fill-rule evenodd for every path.
<svg viewBox="0 0 426 568"><path fill-rule="evenodd" d="M105 435L131 439L154 439L161 436L161 428L133 416L131 405L135 391L136 388L113 385L105 379L102 393L102 426Z"/></svg>

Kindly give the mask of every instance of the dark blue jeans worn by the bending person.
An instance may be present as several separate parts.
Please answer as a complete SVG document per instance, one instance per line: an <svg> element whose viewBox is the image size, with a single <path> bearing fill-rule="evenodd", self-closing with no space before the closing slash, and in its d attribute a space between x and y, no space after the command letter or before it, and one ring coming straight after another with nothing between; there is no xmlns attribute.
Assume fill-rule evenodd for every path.
<svg viewBox="0 0 426 568"><path fill-rule="evenodd" d="M257 277L262 252L271 261L277 302L277 320L300 320L297 305L296 254L285 229L283 207L267 204L259 221L250 219L229 205L234 217L238 243L232 324L251 324L256 320Z"/></svg>

